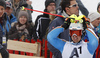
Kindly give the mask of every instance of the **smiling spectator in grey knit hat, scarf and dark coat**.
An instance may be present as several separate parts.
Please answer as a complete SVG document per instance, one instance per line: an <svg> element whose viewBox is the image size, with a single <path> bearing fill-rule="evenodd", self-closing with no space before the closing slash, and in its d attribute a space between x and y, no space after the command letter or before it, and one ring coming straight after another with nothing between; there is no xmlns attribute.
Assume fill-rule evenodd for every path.
<svg viewBox="0 0 100 58"><path fill-rule="evenodd" d="M33 26L27 22L29 19L26 11L20 11L18 15L18 22L11 27L9 31L9 39L25 39L30 40L33 34Z"/></svg>

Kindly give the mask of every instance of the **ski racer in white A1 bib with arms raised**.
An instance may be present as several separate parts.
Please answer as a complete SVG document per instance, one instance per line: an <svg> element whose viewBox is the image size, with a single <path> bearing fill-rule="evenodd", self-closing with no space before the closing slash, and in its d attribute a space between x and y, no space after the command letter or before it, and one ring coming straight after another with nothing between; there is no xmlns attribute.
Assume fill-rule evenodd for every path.
<svg viewBox="0 0 100 58"><path fill-rule="evenodd" d="M84 42L82 40L82 30L84 30L84 25L82 25L82 23L78 23L79 21L77 21L76 17L71 18L74 18L76 23L70 22L72 19L70 20L70 18L67 18L61 27L53 29L48 34L48 41L61 52L62 58L92 58L98 46L98 37L92 29L84 27L89 39L88 43ZM83 24L87 22L84 17L82 17L81 20L83 20ZM87 24L85 23L85 25ZM64 42L58 38L58 35L67 28L70 30L69 37L72 40L71 42Z"/></svg>

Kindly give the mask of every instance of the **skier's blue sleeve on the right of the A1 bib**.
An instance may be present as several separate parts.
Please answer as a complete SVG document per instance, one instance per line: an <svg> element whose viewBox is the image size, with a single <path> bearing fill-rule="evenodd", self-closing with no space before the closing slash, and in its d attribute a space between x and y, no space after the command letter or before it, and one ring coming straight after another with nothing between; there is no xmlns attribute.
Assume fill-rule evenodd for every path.
<svg viewBox="0 0 100 58"><path fill-rule="evenodd" d="M89 40L89 43L87 43L87 48L89 52L93 55L98 47L98 37L96 36L95 32L90 28L86 29L86 34Z"/></svg>

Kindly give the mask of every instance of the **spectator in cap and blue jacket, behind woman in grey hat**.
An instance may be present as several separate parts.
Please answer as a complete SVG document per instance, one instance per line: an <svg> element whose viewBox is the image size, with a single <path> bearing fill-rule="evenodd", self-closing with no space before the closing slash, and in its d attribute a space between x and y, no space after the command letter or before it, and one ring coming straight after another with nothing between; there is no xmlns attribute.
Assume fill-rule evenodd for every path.
<svg viewBox="0 0 100 58"><path fill-rule="evenodd" d="M6 1L6 10L5 12L7 13L7 19L9 19L10 24L12 22L16 22L17 18L12 14L12 4L10 1Z"/></svg>

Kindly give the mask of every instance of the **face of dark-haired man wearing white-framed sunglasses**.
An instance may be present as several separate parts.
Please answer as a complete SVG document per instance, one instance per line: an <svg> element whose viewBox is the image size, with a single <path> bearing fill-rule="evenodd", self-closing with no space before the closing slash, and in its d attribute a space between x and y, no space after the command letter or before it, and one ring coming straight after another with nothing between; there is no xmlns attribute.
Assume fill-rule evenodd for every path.
<svg viewBox="0 0 100 58"><path fill-rule="evenodd" d="M70 2L70 6L65 8L67 14L72 15L79 15L79 7L75 0Z"/></svg>

